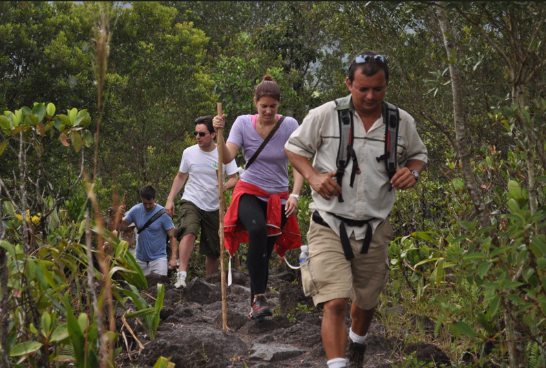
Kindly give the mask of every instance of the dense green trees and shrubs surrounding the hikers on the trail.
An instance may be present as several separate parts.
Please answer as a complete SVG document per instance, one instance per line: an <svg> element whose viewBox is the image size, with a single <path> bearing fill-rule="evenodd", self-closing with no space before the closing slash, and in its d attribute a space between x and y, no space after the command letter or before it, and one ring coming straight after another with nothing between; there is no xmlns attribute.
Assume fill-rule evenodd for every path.
<svg viewBox="0 0 546 368"><path fill-rule="evenodd" d="M348 93L348 61L364 49L388 57L387 99L429 151L392 211L379 310L432 318L454 362L546 365L545 19L539 2L1 2L0 366L110 364L112 305L127 300L138 311L125 317L153 336L161 300L138 295L145 278L103 211L124 191L138 203L147 183L163 203L193 120L216 101L233 123L269 73L280 113L301 122Z"/></svg>

